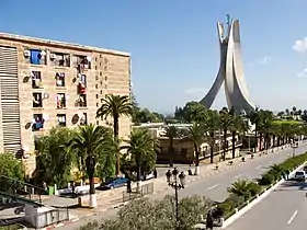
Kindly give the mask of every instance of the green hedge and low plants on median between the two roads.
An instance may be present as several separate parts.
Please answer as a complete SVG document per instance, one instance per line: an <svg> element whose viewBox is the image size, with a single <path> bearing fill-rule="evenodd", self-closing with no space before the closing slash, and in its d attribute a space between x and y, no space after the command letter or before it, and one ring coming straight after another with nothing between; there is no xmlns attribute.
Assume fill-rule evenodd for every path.
<svg viewBox="0 0 307 230"><path fill-rule="evenodd" d="M230 196L218 205L218 207L223 209L224 218L227 219L234 215L236 212L236 208L238 210L243 208L248 202L251 202L255 198L257 194L261 195L265 189L270 188L273 184L275 184L282 177L285 177L286 174L289 174L289 172L306 161L307 152L287 159L280 164L272 165L268 172L261 175L261 177L258 180L258 184L247 181L238 181L232 183L232 187L228 188ZM240 194L240 191L238 189L242 189L242 192L245 192L245 197L238 195Z"/></svg>

